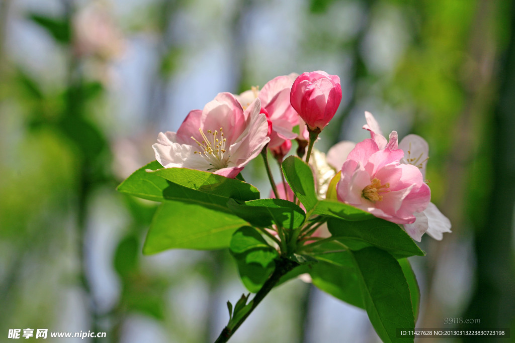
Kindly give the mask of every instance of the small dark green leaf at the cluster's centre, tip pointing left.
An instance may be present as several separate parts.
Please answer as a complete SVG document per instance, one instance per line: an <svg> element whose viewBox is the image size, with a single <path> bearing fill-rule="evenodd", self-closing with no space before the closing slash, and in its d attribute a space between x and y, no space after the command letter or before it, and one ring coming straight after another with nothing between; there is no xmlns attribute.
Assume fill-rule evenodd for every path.
<svg viewBox="0 0 515 343"><path fill-rule="evenodd" d="M295 229L304 223L306 214L299 206L282 199L259 199L238 203L229 200L229 209L253 226L270 227L276 224L286 229Z"/></svg>

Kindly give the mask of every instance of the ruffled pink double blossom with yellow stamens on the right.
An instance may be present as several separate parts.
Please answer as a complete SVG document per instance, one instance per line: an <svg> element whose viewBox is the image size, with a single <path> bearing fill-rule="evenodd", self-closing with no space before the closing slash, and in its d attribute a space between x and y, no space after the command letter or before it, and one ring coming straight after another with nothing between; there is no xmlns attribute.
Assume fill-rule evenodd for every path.
<svg viewBox="0 0 515 343"><path fill-rule="evenodd" d="M341 168L338 200L397 224L415 222L415 212L426 209L431 191L420 170L400 163L397 132L380 149L373 139L357 143Z"/></svg>

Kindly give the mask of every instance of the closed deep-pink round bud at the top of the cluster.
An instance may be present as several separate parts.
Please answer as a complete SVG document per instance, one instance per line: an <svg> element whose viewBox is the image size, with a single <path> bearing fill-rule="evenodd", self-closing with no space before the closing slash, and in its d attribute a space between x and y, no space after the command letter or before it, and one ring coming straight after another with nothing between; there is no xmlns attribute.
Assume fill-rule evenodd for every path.
<svg viewBox="0 0 515 343"><path fill-rule="evenodd" d="M311 131L320 132L333 119L340 101L340 78L325 71L303 73L291 86L291 106Z"/></svg>

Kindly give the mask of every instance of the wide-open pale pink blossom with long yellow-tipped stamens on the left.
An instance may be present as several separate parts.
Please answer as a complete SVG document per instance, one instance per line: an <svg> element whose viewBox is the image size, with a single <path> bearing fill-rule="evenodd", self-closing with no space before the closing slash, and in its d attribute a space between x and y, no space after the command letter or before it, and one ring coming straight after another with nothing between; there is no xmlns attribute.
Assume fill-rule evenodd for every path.
<svg viewBox="0 0 515 343"><path fill-rule="evenodd" d="M261 102L244 111L230 93L220 93L202 111L187 115L175 132L160 133L152 148L165 168L190 168L235 177L270 140Z"/></svg>

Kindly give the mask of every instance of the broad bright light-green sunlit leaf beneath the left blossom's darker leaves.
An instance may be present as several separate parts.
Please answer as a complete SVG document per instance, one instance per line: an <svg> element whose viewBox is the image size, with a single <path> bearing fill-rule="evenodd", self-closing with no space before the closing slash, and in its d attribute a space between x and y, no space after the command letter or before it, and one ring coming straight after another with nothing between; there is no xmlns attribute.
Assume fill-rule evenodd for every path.
<svg viewBox="0 0 515 343"><path fill-rule="evenodd" d="M166 200L147 233L144 254L172 249L213 250L229 246L232 234L247 224L232 213L200 204Z"/></svg>

